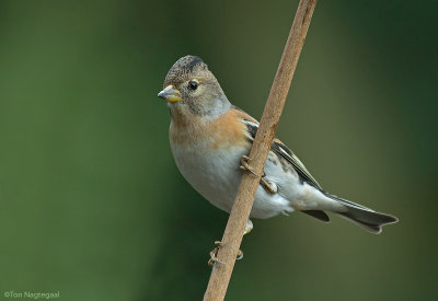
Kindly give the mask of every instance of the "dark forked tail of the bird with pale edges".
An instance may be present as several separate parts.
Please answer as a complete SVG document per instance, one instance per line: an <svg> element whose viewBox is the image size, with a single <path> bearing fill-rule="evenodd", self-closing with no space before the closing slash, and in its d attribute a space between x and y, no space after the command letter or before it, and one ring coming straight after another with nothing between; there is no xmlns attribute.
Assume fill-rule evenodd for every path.
<svg viewBox="0 0 438 301"><path fill-rule="evenodd" d="M336 213L356 222L360 227L365 228L369 232L379 234L382 232L382 227L389 223L395 223L399 221L396 217L376 212L374 210L361 206L359 204L355 204L353 201L339 198L337 196L328 195L327 197L339 201L347 209L346 211L337 211Z"/></svg>

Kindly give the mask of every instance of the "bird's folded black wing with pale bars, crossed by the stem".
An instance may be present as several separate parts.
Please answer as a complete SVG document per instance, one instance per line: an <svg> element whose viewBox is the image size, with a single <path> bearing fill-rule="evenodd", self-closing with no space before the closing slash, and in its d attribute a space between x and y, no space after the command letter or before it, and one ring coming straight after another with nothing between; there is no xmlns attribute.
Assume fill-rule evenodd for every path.
<svg viewBox="0 0 438 301"><path fill-rule="evenodd" d="M239 117L242 119L242 123L246 126L247 138L254 141L255 135L258 129L258 123L253 117L244 113L238 107L233 107L233 109L238 111ZM310 172L306 169L304 164L298 159L293 152L286 147L280 140L274 139L273 143L270 144L270 151L274 152L276 155L281 157L286 160L289 164L293 166L297 171L298 175L303 182L314 186L318 189L322 190L321 185L316 182L316 180L310 174Z"/></svg>

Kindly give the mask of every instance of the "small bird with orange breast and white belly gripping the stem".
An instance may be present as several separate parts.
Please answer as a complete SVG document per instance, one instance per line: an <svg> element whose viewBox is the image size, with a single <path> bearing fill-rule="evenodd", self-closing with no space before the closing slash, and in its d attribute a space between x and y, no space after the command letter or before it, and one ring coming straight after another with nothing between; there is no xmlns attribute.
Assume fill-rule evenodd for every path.
<svg viewBox="0 0 438 301"><path fill-rule="evenodd" d="M180 58L169 70L159 97L171 115L170 143L185 180L212 205L230 212L245 161L258 128L256 119L233 106L207 65L196 56ZM246 158L247 159L247 158ZM397 222L324 192L301 161L274 139L251 218L301 211L328 222L325 211L347 218L372 233ZM253 228L251 220L245 233Z"/></svg>

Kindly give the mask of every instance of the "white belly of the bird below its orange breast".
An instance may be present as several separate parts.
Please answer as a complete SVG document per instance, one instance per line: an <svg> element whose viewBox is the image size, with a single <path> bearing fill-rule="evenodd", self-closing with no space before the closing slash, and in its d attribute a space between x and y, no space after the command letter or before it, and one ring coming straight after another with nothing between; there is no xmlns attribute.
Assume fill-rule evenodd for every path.
<svg viewBox="0 0 438 301"><path fill-rule="evenodd" d="M242 170L239 169L241 158L249 150L244 147L235 147L233 151L183 150L172 143L171 147L185 180L212 205L230 212L242 177ZM272 195L258 186L251 217L265 219L291 211L293 209L286 198L279 194Z"/></svg>

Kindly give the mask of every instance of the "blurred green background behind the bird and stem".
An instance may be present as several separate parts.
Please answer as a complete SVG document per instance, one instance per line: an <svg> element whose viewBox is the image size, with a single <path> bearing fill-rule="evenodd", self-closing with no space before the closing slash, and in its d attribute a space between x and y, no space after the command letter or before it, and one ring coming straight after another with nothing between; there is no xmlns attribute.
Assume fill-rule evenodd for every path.
<svg viewBox="0 0 438 301"><path fill-rule="evenodd" d="M157 99L200 56L260 118L298 1L1 1L0 293L199 300L228 216L181 176ZM278 137L401 222L254 220L228 300L438 296L436 1L320 1Z"/></svg>

